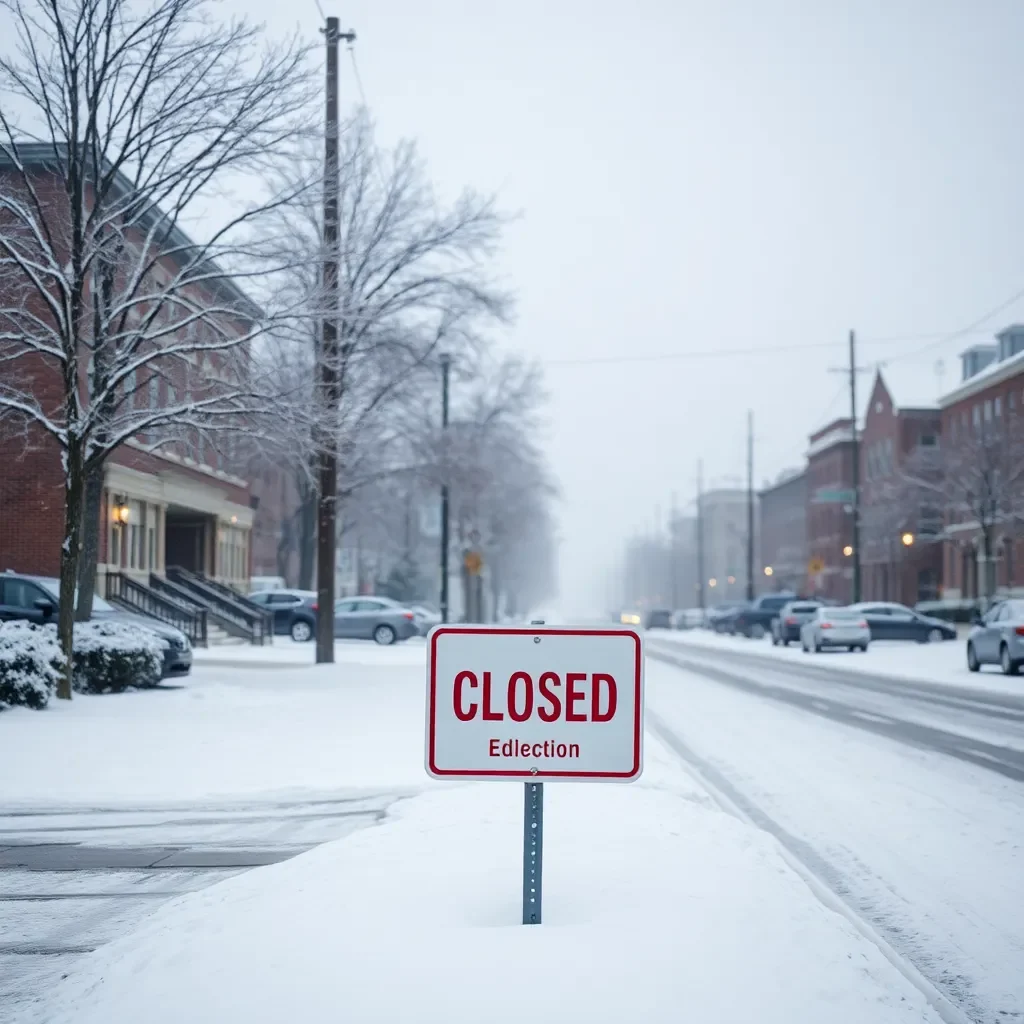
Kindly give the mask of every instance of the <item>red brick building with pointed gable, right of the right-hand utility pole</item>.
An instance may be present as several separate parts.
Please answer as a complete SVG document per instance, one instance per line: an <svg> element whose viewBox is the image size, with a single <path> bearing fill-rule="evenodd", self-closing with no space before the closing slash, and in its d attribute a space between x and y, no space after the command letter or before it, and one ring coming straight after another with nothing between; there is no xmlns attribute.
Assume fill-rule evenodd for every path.
<svg viewBox="0 0 1024 1024"><path fill-rule="evenodd" d="M876 374L860 435L861 597L913 605L939 596L942 522L904 469L920 450L938 450L941 420L927 378L901 381L897 400L887 376Z"/></svg>

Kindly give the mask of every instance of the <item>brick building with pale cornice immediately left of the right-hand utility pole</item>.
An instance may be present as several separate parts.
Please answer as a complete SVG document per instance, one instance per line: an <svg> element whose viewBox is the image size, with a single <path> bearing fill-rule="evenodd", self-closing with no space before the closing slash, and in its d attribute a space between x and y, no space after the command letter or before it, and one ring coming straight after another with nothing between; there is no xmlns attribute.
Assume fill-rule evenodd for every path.
<svg viewBox="0 0 1024 1024"><path fill-rule="evenodd" d="M812 593L853 600L853 422L834 420L807 449L808 586Z"/></svg>

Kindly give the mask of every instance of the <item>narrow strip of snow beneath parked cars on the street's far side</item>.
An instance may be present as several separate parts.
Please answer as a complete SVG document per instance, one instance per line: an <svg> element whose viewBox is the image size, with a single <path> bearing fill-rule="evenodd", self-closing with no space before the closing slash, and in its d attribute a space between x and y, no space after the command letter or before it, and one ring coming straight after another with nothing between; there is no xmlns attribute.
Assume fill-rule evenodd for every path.
<svg viewBox="0 0 1024 1024"><path fill-rule="evenodd" d="M771 640L748 640L709 630L670 631L656 630L648 633L648 639L655 643L676 643L684 647L699 647L708 650L723 650L763 657L807 663L823 663L844 672L858 672L866 675L891 676L914 682L935 683L945 686L963 686L988 690L995 693L1014 693L1024 696L1024 676L1002 676L997 667L985 666L981 672L970 672L963 641L948 640L944 643L907 643L895 640L876 641L866 653L860 651L825 651L820 654L806 654L800 644L788 647L774 647Z"/></svg>

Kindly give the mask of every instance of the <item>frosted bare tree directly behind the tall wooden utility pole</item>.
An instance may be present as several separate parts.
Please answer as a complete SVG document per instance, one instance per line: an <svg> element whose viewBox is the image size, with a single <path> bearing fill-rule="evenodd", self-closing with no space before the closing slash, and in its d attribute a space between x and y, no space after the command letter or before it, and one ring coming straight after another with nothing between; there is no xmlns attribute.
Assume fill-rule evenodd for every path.
<svg viewBox="0 0 1024 1024"><path fill-rule="evenodd" d="M360 437L381 429L402 395L423 386L429 360L439 346L460 351L475 342L483 321L507 316L510 301L489 279L488 261L497 246L502 218L493 200L464 193L452 206L440 204L411 142L386 152L374 139L372 125L357 117L341 134L338 205L340 224L339 297L328 305L319 275L323 238L316 208L288 213L295 264L304 269L288 287L305 296L316 319L337 325L338 357L327 368L337 381L337 402L311 387L302 398L296 422L297 471L307 476L300 487L307 501L327 508L317 521L337 522L339 495L319 495L311 467L325 449L337 446L341 483L359 452ZM308 330L294 339L293 352L313 365L325 379L318 334ZM312 381L312 378L310 379ZM312 488L310 487L312 484ZM317 543L334 550L336 526ZM327 562L334 563L333 557ZM319 620L317 658L333 659L334 581L317 580Z"/></svg>

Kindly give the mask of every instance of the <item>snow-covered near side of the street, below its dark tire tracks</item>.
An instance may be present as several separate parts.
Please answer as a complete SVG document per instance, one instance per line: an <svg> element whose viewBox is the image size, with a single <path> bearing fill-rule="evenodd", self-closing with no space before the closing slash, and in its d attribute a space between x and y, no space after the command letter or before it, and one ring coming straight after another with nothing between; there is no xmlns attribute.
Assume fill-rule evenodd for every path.
<svg viewBox="0 0 1024 1024"><path fill-rule="evenodd" d="M653 658L647 705L974 1020L1024 1018L1020 782Z"/></svg>

